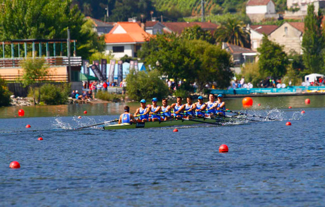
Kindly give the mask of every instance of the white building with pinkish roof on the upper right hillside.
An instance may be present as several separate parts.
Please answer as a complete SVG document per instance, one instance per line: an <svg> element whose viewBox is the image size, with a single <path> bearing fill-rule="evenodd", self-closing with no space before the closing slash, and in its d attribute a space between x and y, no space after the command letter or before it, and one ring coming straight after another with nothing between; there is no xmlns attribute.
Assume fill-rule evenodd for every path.
<svg viewBox="0 0 325 207"><path fill-rule="evenodd" d="M246 15L252 22L260 22L264 19L278 19L272 0L248 0Z"/></svg>

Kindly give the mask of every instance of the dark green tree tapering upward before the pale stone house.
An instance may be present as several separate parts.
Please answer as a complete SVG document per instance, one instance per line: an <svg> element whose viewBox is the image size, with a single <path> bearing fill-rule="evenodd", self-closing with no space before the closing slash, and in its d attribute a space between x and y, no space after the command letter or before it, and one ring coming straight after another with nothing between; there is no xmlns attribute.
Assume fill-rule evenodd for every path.
<svg viewBox="0 0 325 207"><path fill-rule="evenodd" d="M279 78L285 74L288 58L283 51L283 46L268 40L264 35L257 51L260 53L258 66L261 73L273 78Z"/></svg>

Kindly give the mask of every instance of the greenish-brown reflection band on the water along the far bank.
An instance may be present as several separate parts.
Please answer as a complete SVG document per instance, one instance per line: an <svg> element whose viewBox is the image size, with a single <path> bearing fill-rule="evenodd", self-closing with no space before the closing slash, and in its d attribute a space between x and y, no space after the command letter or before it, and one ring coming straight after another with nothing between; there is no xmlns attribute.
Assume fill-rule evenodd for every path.
<svg viewBox="0 0 325 207"><path fill-rule="evenodd" d="M310 99L310 104L304 104L306 98ZM259 110L262 109L269 113L278 116L279 109L287 109L288 106L294 109L301 108L320 108L325 107L325 96L324 95L313 95L313 96L279 96L279 97L253 97L253 106L248 110ZM230 110L243 110L241 105L242 98L225 98L226 108ZM196 100L195 100L196 101ZM207 100L206 100L207 101ZM175 101L169 101L171 104ZM147 100L147 104L151 102ZM183 103L185 101L183 100ZM161 105L161 102L158 105ZM257 106L260 104L260 106ZM24 117L49 117L49 116L85 116L83 111L87 111L86 115L117 115L123 113L123 107L128 105L130 112L133 113L136 108L139 107L139 103L104 103L104 104L69 104L69 105L57 105L57 106L11 106L11 107L0 107L0 118L12 118L17 116L19 109L25 111ZM268 115L268 114L263 114ZM282 117L275 117L282 119ZM296 117L292 117L295 119Z"/></svg>

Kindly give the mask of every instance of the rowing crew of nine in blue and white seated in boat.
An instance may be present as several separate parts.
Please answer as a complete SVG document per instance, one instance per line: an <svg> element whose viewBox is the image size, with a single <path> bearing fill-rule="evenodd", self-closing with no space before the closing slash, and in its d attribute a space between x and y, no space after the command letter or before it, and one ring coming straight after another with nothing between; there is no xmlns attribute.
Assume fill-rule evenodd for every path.
<svg viewBox="0 0 325 207"><path fill-rule="evenodd" d="M222 100L222 94L217 95L214 100L214 94L209 94L209 101L203 102L203 97L199 96L197 102L193 103L191 97L186 97L186 104L182 104L182 98L178 96L176 103L168 105L167 99L161 100L161 106L157 105L157 98L152 98L151 105L146 105L146 101L140 101L140 107L134 114L129 113L129 107L124 107L124 113L119 116L120 123L135 123L147 121L166 121L169 119L183 119L194 117L214 117L225 115L225 103ZM136 119L135 119L136 117Z"/></svg>

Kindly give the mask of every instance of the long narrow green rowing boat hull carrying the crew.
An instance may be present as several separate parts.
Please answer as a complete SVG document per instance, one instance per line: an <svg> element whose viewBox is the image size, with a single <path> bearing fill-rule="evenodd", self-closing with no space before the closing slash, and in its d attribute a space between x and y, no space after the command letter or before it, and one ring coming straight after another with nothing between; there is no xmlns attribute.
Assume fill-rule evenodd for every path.
<svg viewBox="0 0 325 207"><path fill-rule="evenodd" d="M236 118L234 118L236 117ZM193 118L193 119L171 119L167 121L150 121L150 122L138 122L138 123L122 123L122 124L112 124L106 125L103 129L112 130L112 129L135 129L135 128L156 128L156 127L166 127L166 126L177 126L177 125L191 125L191 124L215 124L222 125L225 122L238 120L238 116L217 116L212 118Z"/></svg>

